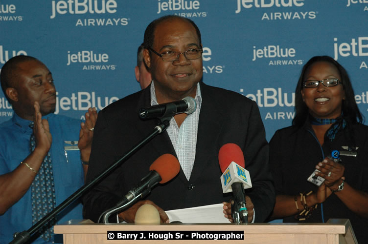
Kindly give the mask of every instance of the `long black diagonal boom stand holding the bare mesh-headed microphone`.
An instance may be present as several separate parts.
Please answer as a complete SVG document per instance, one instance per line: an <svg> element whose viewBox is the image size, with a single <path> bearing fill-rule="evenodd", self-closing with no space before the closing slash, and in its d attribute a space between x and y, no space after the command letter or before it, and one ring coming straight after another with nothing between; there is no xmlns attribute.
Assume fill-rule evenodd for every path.
<svg viewBox="0 0 368 244"><path fill-rule="evenodd" d="M98 181L102 178L110 174L115 170L122 162L127 160L130 156L136 153L143 145L149 142L152 138L154 138L157 134L165 131L167 127L170 125L171 118L176 114L177 108L175 104L172 106L167 106L165 114L160 118L159 124L154 128L154 130L142 141L138 142L133 148L122 156L119 160L113 163L110 167L108 167L104 172L102 172L99 176L94 178L90 183L83 185L78 190L76 190L69 198L67 198L63 203L60 203L56 206L51 212L45 215L44 218L39 220L36 224L32 225L28 230L24 230L22 232L16 232L14 234L14 239L9 244L22 244L28 241L32 234L38 231L43 225L45 225L48 221L50 221L56 214L66 208L70 203L74 202L74 200L78 199L82 194L88 191L92 186L94 186Z"/></svg>

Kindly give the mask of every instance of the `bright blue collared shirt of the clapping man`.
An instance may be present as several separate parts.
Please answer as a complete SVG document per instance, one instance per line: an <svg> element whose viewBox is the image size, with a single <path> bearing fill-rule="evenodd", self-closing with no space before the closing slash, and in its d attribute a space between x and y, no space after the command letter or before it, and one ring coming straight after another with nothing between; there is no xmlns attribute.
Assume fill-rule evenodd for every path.
<svg viewBox="0 0 368 244"><path fill-rule="evenodd" d="M72 144L79 140L81 121L54 114L48 114L43 119L48 121L52 135L50 153L56 205L59 205L84 183L79 150L70 150L73 148ZM13 171L30 154L29 140L32 129L28 126L29 122L14 113L11 120L0 124L0 175ZM31 208L30 187L17 203L0 216L0 244L9 243L13 240L15 232L28 230L32 226ZM59 213L57 223L71 219L82 219L82 204L79 200ZM39 238L33 243L52 241L45 242ZM62 242L62 236L56 235L55 242Z"/></svg>

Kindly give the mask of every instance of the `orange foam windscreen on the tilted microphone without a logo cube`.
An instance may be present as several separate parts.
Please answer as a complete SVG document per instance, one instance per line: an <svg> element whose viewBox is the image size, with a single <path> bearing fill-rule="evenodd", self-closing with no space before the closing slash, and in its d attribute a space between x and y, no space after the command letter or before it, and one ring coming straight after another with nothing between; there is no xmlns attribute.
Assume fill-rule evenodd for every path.
<svg viewBox="0 0 368 244"><path fill-rule="evenodd" d="M155 170L161 176L161 184L173 179L180 171L178 159L169 153L161 155L150 166L150 171Z"/></svg>

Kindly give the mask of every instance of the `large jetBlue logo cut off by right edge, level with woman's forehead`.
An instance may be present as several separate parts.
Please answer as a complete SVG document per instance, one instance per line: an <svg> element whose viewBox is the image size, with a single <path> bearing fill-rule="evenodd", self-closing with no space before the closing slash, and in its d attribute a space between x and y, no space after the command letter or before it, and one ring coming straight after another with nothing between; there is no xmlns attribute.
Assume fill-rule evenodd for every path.
<svg viewBox="0 0 368 244"><path fill-rule="evenodd" d="M338 43L338 39L334 38L334 59L341 57L368 57L368 37L352 38L348 42ZM362 61L359 69L368 69L368 60Z"/></svg>

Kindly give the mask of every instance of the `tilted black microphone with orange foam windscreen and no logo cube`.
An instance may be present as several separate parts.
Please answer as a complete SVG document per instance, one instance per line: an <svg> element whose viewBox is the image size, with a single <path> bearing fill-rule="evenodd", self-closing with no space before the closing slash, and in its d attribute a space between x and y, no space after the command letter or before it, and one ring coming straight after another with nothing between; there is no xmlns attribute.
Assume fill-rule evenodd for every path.
<svg viewBox="0 0 368 244"><path fill-rule="evenodd" d="M150 166L150 172L146 175L140 183L130 190L123 199L116 205L122 205L129 202L141 194L141 198L151 192L153 186L157 183L166 183L173 179L180 171L180 163L178 159L169 153L161 155Z"/></svg>

